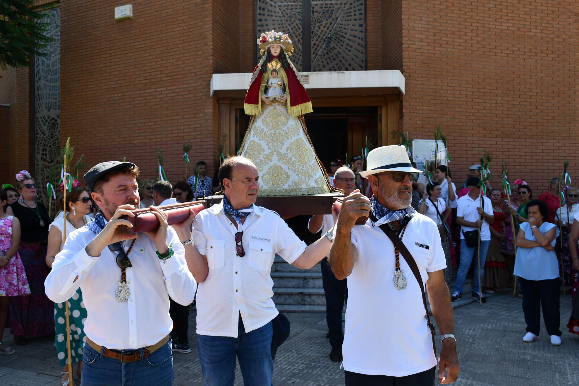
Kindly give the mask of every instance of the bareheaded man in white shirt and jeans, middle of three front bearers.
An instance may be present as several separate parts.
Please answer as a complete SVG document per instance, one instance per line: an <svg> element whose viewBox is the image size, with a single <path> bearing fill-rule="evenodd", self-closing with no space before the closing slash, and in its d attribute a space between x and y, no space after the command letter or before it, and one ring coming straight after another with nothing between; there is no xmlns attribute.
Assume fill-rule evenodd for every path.
<svg viewBox="0 0 579 386"><path fill-rule="evenodd" d="M276 253L298 268L312 268L331 234L307 246L277 213L255 206L257 168L241 156L219 167L223 201L199 213L192 268L197 292L197 348L207 385L232 385L236 356L245 384L272 384L273 303L270 271Z"/></svg>

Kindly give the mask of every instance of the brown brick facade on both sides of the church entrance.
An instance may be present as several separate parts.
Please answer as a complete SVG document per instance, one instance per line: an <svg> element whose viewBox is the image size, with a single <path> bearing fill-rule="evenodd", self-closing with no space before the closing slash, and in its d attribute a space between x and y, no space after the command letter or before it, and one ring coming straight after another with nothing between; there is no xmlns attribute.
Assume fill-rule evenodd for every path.
<svg viewBox="0 0 579 386"><path fill-rule="evenodd" d="M120 22L118 2L61 3L61 141L70 136L87 165L126 156L143 177L155 176L160 149L171 181L184 178L181 147L192 143L191 161L206 161L212 176L219 129L211 75L254 68L255 2L132 3L133 19ZM400 127L432 138L442 125L457 182L484 150L493 152L492 172L508 162L511 177L536 191L565 157L576 176L573 5L367 0L365 15L367 69L403 72ZM0 107L10 154L2 181L32 169L29 74L0 79L0 103L10 104Z"/></svg>

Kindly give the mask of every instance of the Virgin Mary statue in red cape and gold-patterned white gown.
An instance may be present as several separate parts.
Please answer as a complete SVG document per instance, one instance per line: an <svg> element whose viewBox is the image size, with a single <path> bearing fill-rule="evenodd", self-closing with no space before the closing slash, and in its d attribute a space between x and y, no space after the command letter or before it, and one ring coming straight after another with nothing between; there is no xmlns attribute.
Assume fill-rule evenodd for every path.
<svg viewBox="0 0 579 386"><path fill-rule="evenodd" d="M303 120L312 112L312 101L291 63L290 37L269 31L257 42L262 57L245 95L245 114L251 119L239 154L257 166L260 196L329 193L328 175ZM270 97L272 84L279 96Z"/></svg>

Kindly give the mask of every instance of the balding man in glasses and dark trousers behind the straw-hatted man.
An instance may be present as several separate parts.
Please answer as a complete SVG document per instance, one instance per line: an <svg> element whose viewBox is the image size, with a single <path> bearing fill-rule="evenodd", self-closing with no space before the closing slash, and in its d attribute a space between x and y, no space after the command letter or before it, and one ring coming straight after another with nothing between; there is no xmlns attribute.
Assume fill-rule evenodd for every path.
<svg viewBox="0 0 579 386"><path fill-rule="evenodd" d="M349 195L356 188L356 179L354 172L347 167L342 166L334 174L334 186ZM334 227L334 216L332 214L314 214L307 223L307 229L312 233L322 231L322 234ZM348 296L346 279L338 280L329 268L328 261L320 263L322 268L322 283L324 285L324 295L326 299L326 323L328 323L328 338L332 350L329 353L329 359L333 362L342 360L342 343L344 336L342 334L342 310L344 301Z"/></svg>

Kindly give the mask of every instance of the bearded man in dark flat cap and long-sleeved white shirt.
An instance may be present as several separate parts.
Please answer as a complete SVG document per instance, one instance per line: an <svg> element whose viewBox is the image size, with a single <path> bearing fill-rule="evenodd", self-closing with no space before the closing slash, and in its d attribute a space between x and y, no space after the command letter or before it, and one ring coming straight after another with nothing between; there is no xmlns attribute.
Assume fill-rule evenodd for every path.
<svg viewBox="0 0 579 386"><path fill-rule="evenodd" d="M45 281L46 295L63 303L80 286L86 307L83 385L171 385L169 298L190 304L195 280L167 214L151 206L159 228L123 234L122 216L139 207L138 167L102 162L85 174L101 211L72 232ZM189 221L192 221L190 217Z"/></svg>

